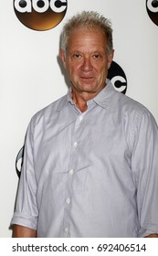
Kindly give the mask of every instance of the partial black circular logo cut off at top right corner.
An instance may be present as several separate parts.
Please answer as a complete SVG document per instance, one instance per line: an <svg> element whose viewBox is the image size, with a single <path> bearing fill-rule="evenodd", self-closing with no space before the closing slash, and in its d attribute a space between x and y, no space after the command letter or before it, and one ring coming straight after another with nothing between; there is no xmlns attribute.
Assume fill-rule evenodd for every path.
<svg viewBox="0 0 158 256"><path fill-rule="evenodd" d="M148 15L153 20L153 23L158 26L158 1L147 0L146 9L147 9Z"/></svg>

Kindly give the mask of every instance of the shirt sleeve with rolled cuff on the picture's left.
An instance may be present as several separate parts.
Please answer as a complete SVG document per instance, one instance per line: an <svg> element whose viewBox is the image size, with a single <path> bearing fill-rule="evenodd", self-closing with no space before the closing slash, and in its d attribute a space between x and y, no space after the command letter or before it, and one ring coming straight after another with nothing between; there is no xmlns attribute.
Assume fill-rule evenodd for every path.
<svg viewBox="0 0 158 256"><path fill-rule="evenodd" d="M16 224L29 229L37 229L37 181L34 170L33 157L33 130L34 125L31 121L25 143L25 153L23 166L16 197L16 209L11 220L11 225Z"/></svg>

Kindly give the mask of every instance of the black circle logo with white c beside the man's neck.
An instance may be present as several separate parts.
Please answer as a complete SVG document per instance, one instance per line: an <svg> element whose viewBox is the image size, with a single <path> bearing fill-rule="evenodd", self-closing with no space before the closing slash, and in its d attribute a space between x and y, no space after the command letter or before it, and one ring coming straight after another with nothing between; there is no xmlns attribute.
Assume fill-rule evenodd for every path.
<svg viewBox="0 0 158 256"><path fill-rule="evenodd" d="M125 94L127 91L127 78L126 75L116 62L111 62L111 68L108 70L108 79L111 80L116 91Z"/></svg>

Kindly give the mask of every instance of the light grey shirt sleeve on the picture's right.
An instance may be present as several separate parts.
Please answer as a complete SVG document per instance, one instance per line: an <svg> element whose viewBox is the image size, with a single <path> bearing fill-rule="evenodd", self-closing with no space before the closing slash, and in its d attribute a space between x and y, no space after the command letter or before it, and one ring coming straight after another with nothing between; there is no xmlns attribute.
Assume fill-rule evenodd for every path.
<svg viewBox="0 0 158 256"><path fill-rule="evenodd" d="M137 187L138 236L158 233L158 127L147 110L136 121L132 175Z"/></svg>

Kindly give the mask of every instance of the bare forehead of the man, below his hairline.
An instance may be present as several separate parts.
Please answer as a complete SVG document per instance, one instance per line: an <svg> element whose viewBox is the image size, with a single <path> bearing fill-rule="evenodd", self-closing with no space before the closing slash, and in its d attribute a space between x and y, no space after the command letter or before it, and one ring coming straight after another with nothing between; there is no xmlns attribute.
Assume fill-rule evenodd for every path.
<svg viewBox="0 0 158 256"><path fill-rule="evenodd" d="M106 48L106 46L107 39L104 32L102 29L96 27L72 29L68 37L68 48Z"/></svg>

